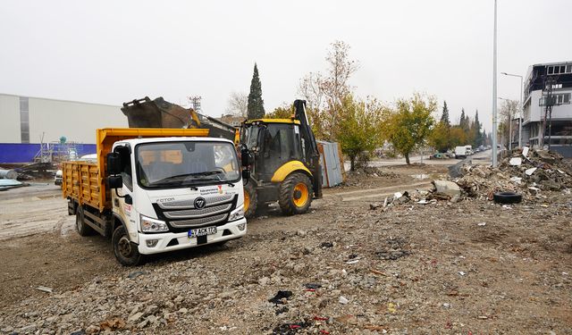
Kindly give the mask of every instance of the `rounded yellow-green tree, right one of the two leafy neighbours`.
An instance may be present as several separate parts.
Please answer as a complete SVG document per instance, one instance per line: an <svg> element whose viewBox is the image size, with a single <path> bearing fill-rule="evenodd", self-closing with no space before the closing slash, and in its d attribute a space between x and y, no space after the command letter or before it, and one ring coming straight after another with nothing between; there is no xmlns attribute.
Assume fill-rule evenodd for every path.
<svg viewBox="0 0 572 335"><path fill-rule="evenodd" d="M384 120L384 134L393 148L405 156L409 162L409 155L418 146L425 144L431 134L434 124L432 113L437 107L433 96L426 100L423 96L415 94L410 99L400 99L397 110Z"/></svg>

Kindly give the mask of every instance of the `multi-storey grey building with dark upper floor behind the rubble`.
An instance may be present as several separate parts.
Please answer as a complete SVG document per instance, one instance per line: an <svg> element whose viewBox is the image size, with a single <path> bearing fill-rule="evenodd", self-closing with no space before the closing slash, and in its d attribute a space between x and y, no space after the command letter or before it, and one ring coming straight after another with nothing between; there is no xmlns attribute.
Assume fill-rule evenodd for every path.
<svg viewBox="0 0 572 335"><path fill-rule="evenodd" d="M572 157L572 62L534 64L524 86L523 145Z"/></svg>

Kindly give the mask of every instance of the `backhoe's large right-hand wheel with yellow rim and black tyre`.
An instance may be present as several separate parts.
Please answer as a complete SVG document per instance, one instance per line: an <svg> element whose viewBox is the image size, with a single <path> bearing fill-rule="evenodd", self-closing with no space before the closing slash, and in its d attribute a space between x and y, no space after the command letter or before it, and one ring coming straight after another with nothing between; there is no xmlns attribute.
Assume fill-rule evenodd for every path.
<svg viewBox="0 0 572 335"><path fill-rule="evenodd" d="M304 214L312 204L312 182L303 173L292 173L282 181L278 204L282 214Z"/></svg>

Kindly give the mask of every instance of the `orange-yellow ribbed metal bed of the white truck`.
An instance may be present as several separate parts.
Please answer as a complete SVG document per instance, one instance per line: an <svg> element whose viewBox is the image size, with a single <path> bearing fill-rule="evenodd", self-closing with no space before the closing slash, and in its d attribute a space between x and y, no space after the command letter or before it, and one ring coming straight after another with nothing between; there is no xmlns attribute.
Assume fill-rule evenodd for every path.
<svg viewBox="0 0 572 335"><path fill-rule="evenodd" d="M97 130L97 163L63 162L62 196L75 199L103 212L111 209L111 197L105 187L105 156L114 143L129 138L206 137L206 129L114 128Z"/></svg>

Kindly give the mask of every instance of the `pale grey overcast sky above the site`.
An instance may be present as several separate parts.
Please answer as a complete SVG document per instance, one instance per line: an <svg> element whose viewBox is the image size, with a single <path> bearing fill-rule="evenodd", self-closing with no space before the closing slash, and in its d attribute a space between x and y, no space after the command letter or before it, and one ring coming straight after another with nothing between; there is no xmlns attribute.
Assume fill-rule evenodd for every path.
<svg viewBox="0 0 572 335"><path fill-rule="evenodd" d="M572 61L572 1L499 0L498 69ZM461 107L491 130L493 0L2 1L0 93L121 105L202 96L220 116L258 63L266 111L324 71L330 43L360 63L358 96L413 92ZM517 78L499 96L518 99ZM441 109L441 107L440 107ZM118 111L119 113L119 111ZM441 110L438 115L441 115Z"/></svg>

